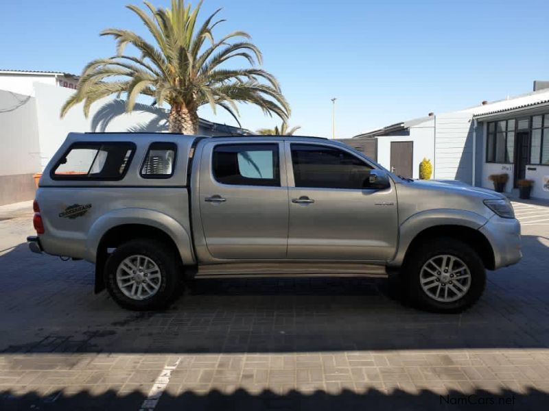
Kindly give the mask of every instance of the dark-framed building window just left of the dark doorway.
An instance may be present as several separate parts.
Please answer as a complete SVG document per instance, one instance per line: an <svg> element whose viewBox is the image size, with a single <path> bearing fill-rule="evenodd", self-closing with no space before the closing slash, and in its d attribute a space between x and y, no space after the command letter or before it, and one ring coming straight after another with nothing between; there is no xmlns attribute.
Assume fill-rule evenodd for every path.
<svg viewBox="0 0 549 411"><path fill-rule="evenodd" d="M488 123L486 161L511 163L515 160L515 119Z"/></svg>

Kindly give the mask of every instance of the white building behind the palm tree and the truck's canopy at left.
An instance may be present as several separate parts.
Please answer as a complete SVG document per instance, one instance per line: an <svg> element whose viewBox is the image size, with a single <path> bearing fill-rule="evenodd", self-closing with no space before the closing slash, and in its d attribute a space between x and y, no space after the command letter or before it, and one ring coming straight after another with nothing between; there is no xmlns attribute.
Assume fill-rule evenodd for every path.
<svg viewBox="0 0 549 411"><path fill-rule="evenodd" d="M141 105L127 114L124 102L113 99L94 103L87 119L81 106L60 119L61 106L77 82L65 73L0 70L0 205L34 199L34 173L42 172L69 132L167 130L165 110ZM249 133L203 119L198 132Z"/></svg>

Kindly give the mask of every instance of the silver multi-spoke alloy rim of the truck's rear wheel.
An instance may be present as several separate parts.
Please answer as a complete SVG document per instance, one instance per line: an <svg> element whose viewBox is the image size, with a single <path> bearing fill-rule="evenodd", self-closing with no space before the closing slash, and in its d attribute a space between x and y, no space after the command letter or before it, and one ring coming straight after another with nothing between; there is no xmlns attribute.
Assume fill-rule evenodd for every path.
<svg viewBox="0 0 549 411"><path fill-rule="evenodd" d="M116 282L126 297L141 301L158 292L162 283L159 266L147 256L124 258L116 271Z"/></svg>

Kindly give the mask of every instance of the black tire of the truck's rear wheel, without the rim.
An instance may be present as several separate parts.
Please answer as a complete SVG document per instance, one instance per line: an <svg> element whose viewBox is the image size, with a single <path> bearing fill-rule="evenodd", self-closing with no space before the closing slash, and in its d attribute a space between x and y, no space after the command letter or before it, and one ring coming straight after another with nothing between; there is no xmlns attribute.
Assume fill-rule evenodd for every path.
<svg viewBox="0 0 549 411"><path fill-rule="evenodd" d="M150 258L159 268L160 287L148 298L132 299L122 292L116 279L119 265L130 256ZM139 238L120 245L110 254L105 267L105 286L110 297L122 308L135 311L162 310L178 296L181 290L181 264L172 247L158 240Z"/></svg>

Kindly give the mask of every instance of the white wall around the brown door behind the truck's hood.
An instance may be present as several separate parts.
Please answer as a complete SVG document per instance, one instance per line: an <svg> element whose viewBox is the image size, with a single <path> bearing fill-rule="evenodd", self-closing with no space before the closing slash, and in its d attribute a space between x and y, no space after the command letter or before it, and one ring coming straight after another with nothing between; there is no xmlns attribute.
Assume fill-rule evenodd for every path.
<svg viewBox="0 0 549 411"><path fill-rule="evenodd" d="M419 178L419 163L423 158L433 162L434 158L434 120L425 121L410 127L409 136L380 136L377 137L377 162L390 170L390 143L392 141L414 142L412 156L412 178ZM433 177L431 177L433 178Z"/></svg>

